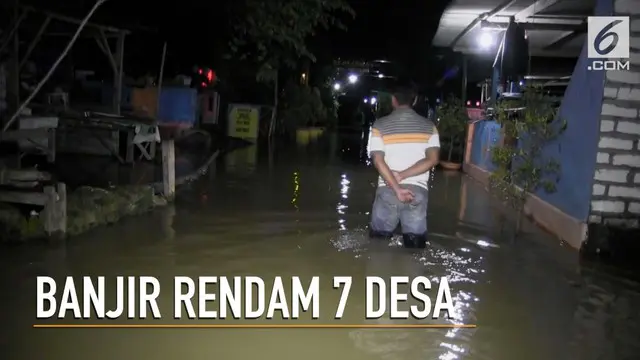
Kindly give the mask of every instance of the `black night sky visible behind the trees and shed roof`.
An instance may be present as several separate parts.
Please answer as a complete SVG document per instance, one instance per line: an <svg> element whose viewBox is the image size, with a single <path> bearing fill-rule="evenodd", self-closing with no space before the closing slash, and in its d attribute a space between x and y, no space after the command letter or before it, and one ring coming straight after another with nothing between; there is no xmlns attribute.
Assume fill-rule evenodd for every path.
<svg viewBox="0 0 640 360"><path fill-rule="evenodd" d="M82 18L94 4L93 0L22 0L63 14ZM348 30L321 32L310 39L318 63L330 64L337 57L354 60L387 59L404 70L403 77L435 84L447 68L458 65L455 57L437 57L441 51L431 48L442 12L450 0L348 0L356 12L355 19L345 17ZM156 73L160 63L162 43L168 41L166 73L185 71L192 65L217 67L228 39L229 19L226 7L234 0L181 0L159 2L151 0L108 0L92 21L133 29L127 38L125 69L129 74L150 71ZM37 19L36 19L37 20ZM32 32L38 27L36 21ZM148 31L142 27L157 29ZM67 31L75 27L67 27ZM28 34L27 34L28 35ZM25 41L28 40L26 36ZM59 38L52 53L59 54L68 39ZM52 41L49 39L48 41ZM44 42L44 41L43 41ZM82 55L85 67L100 67L109 71L106 58L92 40L79 42L74 48ZM76 55L77 60L80 55ZM476 59L477 60L477 59ZM486 64L474 60L470 81L490 74ZM554 63L555 64L555 63ZM571 68L571 64L568 66ZM447 91L459 92L461 80L446 82ZM470 87L472 84L470 83Z"/></svg>

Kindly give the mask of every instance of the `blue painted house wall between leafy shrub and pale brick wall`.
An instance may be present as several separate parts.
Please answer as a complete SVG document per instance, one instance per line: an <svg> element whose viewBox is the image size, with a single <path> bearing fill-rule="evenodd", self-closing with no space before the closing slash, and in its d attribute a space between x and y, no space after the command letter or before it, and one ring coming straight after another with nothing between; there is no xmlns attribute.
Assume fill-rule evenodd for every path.
<svg viewBox="0 0 640 360"><path fill-rule="evenodd" d="M598 0L594 13L611 15L613 0ZM587 71L587 61L587 46L584 46L560 107L560 117L567 122L567 129L545 149L546 156L554 157L561 164L557 191L547 194L540 190L537 194L581 221L586 221L589 214L605 80L604 71Z"/></svg>

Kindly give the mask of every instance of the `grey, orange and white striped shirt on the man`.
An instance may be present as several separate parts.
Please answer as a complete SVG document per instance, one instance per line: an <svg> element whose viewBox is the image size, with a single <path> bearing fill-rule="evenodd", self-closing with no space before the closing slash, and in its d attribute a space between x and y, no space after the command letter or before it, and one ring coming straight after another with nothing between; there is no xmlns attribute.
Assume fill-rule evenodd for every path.
<svg viewBox="0 0 640 360"><path fill-rule="evenodd" d="M418 115L411 108L394 110L373 124L369 134L369 155L384 153L384 160L393 171L403 171L426 156L426 150L440 147L436 125ZM401 184L418 185L428 189L429 172L406 178ZM386 186L382 177L378 186Z"/></svg>

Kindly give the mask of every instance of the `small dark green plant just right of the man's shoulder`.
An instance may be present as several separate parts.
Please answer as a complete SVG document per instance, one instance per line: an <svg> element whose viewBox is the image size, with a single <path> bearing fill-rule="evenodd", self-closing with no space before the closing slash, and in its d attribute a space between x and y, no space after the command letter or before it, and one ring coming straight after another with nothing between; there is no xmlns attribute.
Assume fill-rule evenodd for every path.
<svg viewBox="0 0 640 360"><path fill-rule="evenodd" d="M457 97L451 95L438 107L438 133L440 138L448 138L447 161L451 161L453 155L453 147L456 141L461 140L469 121L467 108L464 102Z"/></svg>

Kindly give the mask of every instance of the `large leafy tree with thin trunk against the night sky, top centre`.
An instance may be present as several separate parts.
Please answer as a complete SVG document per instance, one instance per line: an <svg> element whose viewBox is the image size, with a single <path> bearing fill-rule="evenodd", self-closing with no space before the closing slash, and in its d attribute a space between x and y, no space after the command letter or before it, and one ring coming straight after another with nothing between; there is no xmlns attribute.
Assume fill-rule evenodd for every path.
<svg viewBox="0 0 640 360"><path fill-rule="evenodd" d="M355 16L346 0L242 0L235 7L229 55L254 61L256 80L273 84L269 136L278 108L278 71L294 68L300 59L315 62L306 40L321 29L345 29L340 13Z"/></svg>

